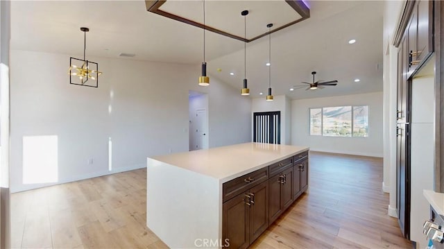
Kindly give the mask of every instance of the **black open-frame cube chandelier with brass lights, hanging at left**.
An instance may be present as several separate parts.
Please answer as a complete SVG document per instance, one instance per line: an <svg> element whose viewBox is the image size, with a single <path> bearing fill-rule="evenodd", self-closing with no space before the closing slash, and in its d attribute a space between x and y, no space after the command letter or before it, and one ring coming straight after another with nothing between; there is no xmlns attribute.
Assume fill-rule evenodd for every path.
<svg viewBox="0 0 444 249"><path fill-rule="evenodd" d="M86 33L89 31L89 28L82 27L80 31L83 31L84 34L84 43L83 43L83 60L78 58L69 58L69 84L71 85L83 85L85 87L99 87L99 76L102 74L99 71L99 64L96 62L92 62L86 60L85 51L86 51ZM75 62L80 62L81 67L74 65ZM72 76L76 76L80 79L80 82L73 82L71 80ZM89 81L88 81L89 80Z"/></svg>

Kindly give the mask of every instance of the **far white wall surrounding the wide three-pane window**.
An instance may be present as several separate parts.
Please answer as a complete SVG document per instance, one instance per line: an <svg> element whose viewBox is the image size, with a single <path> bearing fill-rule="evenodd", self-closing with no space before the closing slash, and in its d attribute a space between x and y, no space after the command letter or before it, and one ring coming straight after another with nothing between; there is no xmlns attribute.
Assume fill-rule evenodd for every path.
<svg viewBox="0 0 444 249"><path fill-rule="evenodd" d="M309 108L368 105L368 137L323 137L309 135ZM291 103L291 144L312 151L382 157L382 92L327 98L307 98Z"/></svg>

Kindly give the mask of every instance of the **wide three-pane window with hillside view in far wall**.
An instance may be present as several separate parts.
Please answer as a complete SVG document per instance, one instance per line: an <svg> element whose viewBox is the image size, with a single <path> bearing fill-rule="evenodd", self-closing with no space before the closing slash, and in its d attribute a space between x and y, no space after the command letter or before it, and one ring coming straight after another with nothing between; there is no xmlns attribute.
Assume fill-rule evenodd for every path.
<svg viewBox="0 0 444 249"><path fill-rule="evenodd" d="M310 135L368 137L368 105L311 108Z"/></svg>

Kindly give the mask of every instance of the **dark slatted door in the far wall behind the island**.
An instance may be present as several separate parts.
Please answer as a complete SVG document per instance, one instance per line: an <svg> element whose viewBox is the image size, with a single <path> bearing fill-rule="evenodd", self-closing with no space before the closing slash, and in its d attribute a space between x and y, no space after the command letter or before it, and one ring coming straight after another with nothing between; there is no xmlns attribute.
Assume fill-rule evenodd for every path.
<svg viewBox="0 0 444 249"><path fill-rule="evenodd" d="M253 141L280 144L280 111L253 113Z"/></svg>

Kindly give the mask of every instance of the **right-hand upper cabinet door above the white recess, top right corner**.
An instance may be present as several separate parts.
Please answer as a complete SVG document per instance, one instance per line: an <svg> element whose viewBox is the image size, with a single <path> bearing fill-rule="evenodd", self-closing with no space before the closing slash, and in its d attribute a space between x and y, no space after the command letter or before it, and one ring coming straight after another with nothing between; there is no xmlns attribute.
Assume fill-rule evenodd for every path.
<svg viewBox="0 0 444 249"><path fill-rule="evenodd" d="M425 60L433 51L433 2L418 1L418 56L417 60Z"/></svg>

